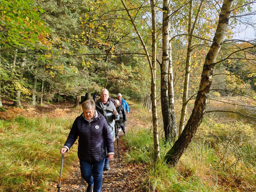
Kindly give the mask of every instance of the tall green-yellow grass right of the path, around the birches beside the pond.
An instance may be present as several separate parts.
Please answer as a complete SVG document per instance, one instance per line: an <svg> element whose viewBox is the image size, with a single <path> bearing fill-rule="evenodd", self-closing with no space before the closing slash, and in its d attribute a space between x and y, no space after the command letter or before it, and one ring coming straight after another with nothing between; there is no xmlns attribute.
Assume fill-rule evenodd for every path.
<svg viewBox="0 0 256 192"><path fill-rule="evenodd" d="M231 192L256 191L255 138L255 130L249 124L207 119L175 168L164 162L172 144L165 145L161 139L161 159L152 161L153 133L149 129L133 128L122 139L130 148L126 161L146 165L139 178L142 191Z"/></svg>

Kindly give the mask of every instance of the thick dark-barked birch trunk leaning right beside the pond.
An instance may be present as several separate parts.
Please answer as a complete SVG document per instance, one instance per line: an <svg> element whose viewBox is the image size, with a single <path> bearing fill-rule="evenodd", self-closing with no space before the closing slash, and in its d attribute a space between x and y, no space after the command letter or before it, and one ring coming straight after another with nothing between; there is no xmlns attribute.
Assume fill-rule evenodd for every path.
<svg viewBox="0 0 256 192"><path fill-rule="evenodd" d="M233 0L223 1L216 33L212 41L211 48L205 58L194 109L184 128L184 131L165 156L166 162L169 163L171 166L175 166L178 163L180 157L188 147L189 143L191 142L193 136L197 131L197 128L202 122L206 108L207 95L209 93L212 83L212 73L215 66L214 62L225 38L232 2Z"/></svg>

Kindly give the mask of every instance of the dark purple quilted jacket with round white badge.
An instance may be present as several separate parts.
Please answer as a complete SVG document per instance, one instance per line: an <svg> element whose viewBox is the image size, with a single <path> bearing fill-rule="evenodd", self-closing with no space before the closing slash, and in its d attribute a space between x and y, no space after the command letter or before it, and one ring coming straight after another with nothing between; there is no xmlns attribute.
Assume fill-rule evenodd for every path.
<svg viewBox="0 0 256 192"><path fill-rule="evenodd" d="M82 115L78 116L65 143L65 146L71 148L79 136L77 154L83 161L98 162L103 160L107 153L114 152L108 123L99 112L98 115L91 123L84 120Z"/></svg>

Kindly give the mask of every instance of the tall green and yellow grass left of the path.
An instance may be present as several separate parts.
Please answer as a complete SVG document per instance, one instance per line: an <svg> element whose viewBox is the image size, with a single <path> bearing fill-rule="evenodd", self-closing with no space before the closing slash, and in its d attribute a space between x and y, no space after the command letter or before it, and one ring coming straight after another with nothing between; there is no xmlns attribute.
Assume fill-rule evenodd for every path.
<svg viewBox="0 0 256 192"><path fill-rule="evenodd" d="M0 120L0 191L45 191L58 181L59 149L73 120L46 116ZM63 175L77 159L75 152L67 155Z"/></svg>

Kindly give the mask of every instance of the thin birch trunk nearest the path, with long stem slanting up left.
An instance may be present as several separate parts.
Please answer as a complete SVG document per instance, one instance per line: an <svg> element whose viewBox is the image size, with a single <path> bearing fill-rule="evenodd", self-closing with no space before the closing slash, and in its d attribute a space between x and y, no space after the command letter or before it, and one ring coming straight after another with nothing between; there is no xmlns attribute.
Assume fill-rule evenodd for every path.
<svg viewBox="0 0 256 192"><path fill-rule="evenodd" d="M156 113L156 10L155 10L155 1L151 0L151 16L152 16L152 62L150 59L150 55L148 54L147 47L145 42L138 31L136 24L131 16L129 10L127 9L123 0L121 0L132 25L141 41L145 54L147 56L148 64L150 66L151 71L151 101L152 101L152 120L153 120L153 137L154 137L154 160L160 158L160 149L159 149L159 134L158 134L158 124L157 124L157 113Z"/></svg>

